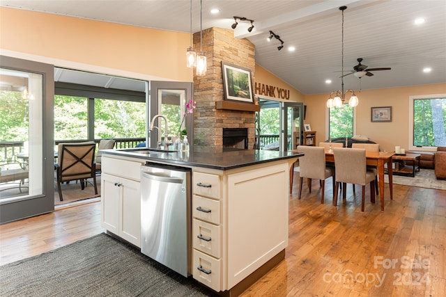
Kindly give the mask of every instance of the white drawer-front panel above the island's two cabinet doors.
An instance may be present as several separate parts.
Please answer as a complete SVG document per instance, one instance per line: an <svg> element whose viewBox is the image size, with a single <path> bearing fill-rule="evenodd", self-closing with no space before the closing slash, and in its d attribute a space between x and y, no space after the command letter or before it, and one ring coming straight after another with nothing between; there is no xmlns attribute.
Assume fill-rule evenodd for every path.
<svg viewBox="0 0 446 297"><path fill-rule="evenodd" d="M128 179L141 179L141 163L139 162L108 158L102 155L101 164L102 172Z"/></svg>

